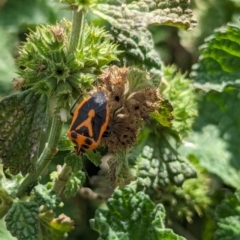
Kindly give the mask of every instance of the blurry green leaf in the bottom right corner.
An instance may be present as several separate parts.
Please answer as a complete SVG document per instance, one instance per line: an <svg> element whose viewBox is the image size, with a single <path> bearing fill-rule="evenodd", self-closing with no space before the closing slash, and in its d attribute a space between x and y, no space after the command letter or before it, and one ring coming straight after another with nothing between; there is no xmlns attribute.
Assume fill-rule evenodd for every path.
<svg viewBox="0 0 240 240"><path fill-rule="evenodd" d="M238 240L240 238L240 191L229 194L216 207L215 221L217 229L215 240Z"/></svg>

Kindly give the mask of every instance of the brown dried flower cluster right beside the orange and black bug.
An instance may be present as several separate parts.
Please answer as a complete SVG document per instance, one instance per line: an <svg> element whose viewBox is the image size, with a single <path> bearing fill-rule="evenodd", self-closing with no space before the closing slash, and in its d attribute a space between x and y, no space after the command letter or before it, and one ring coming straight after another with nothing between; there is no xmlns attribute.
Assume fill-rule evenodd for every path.
<svg viewBox="0 0 240 240"><path fill-rule="evenodd" d="M157 88L151 84L145 84L147 87L135 92L129 89L130 70L126 67L111 66L99 76L98 90L105 92L110 108L109 136L102 138L102 144L112 153L127 150L136 143L142 123L149 119L149 113L157 110L163 100ZM146 81L150 81L147 74Z"/></svg>

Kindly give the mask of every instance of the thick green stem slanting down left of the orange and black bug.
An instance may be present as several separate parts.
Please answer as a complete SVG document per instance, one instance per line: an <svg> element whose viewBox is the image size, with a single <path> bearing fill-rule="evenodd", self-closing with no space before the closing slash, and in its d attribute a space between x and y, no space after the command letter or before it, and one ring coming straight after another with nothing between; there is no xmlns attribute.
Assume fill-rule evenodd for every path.
<svg viewBox="0 0 240 240"><path fill-rule="evenodd" d="M50 135L48 138L48 142L45 145L45 148L39 158L37 163L36 172L33 174L29 174L19 186L17 197L22 197L27 188L32 184L35 184L38 178L42 175L45 169L48 167L51 162L53 156L57 153L57 145L61 136L63 122L61 121L59 116L54 116L51 126Z"/></svg>

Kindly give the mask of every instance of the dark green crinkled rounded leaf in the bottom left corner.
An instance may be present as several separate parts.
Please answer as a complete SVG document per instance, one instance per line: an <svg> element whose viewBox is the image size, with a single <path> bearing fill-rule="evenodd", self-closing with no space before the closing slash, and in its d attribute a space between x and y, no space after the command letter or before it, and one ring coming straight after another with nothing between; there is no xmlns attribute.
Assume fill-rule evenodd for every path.
<svg viewBox="0 0 240 240"><path fill-rule="evenodd" d="M18 240L38 240L38 208L36 202L15 202L8 211L5 218L7 229Z"/></svg>

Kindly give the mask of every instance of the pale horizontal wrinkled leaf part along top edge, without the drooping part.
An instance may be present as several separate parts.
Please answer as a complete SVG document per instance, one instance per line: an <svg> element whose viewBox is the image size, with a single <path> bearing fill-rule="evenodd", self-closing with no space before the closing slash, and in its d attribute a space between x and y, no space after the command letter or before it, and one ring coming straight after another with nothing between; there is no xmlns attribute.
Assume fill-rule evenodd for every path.
<svg viewBox="0 0 240 240"><path fill-rule="evenodd" d="M125 1L122 1L125 3ZM111 3L110 3L111 4ZM114 1L110 4L98 4L99 12L94 11L100 17L109 21L119 29L140 29L152 25L168 25L182 29L192 29L196 21L192 19L192 11L189 9L189 1L159 1L147 0L132 1L124 6L118 6Z"/></svg>

